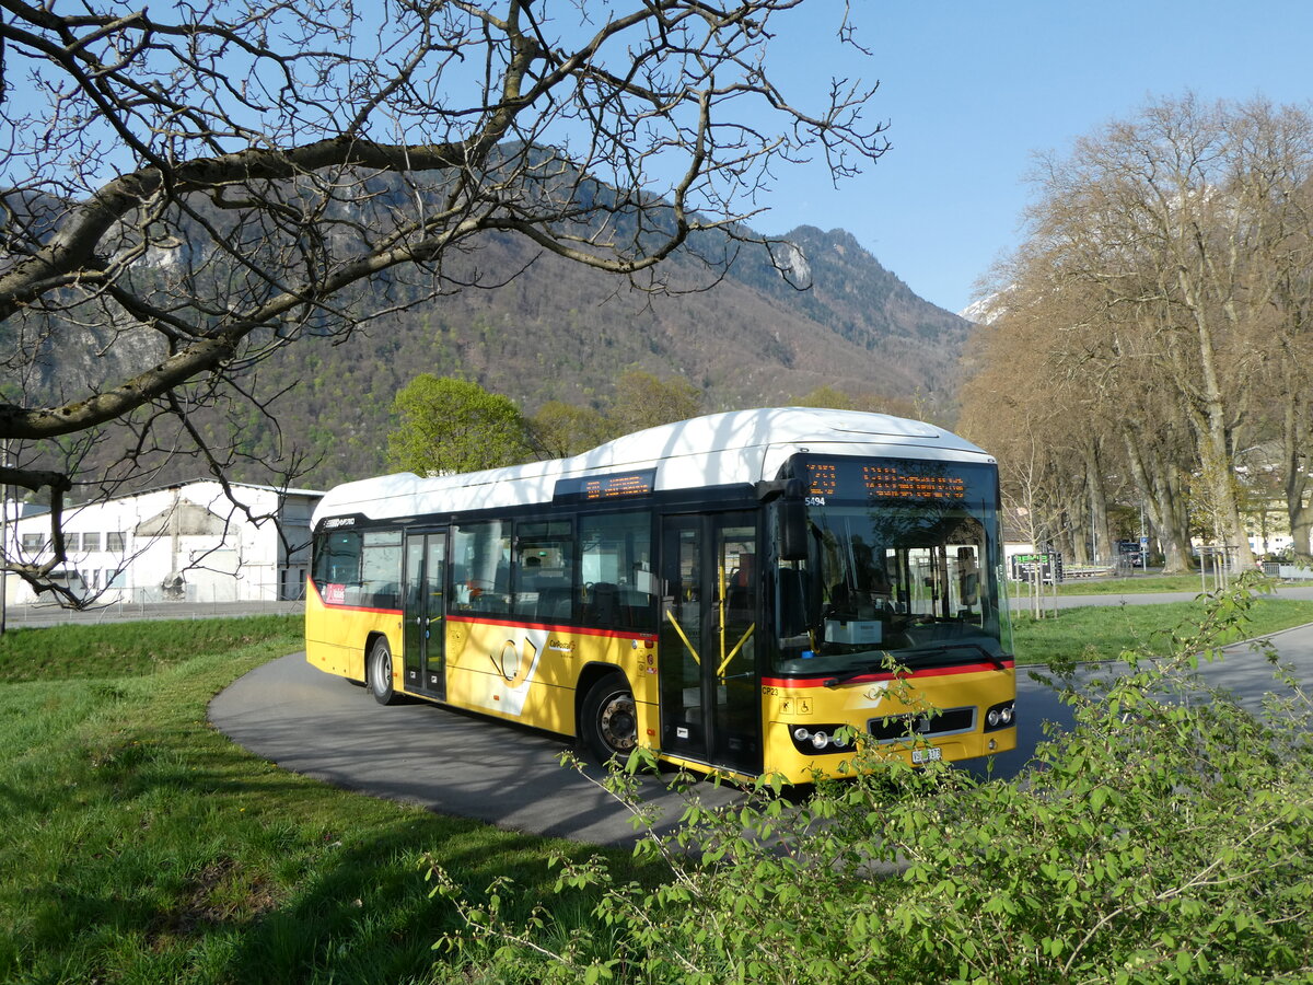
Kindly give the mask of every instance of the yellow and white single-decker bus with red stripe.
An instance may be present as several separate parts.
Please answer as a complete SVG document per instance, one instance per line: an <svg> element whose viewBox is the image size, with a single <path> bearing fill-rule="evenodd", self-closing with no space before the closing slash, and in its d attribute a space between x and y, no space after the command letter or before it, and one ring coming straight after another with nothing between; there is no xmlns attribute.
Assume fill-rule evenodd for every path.
<svg viewBox="0 0 1313 985"><path fill-rule="evenodd" d="M383 704L792 781L853 733L913 763L1016 745L997 465L931 424L714 414L351 482L312 524L306 657Z"/></svg>

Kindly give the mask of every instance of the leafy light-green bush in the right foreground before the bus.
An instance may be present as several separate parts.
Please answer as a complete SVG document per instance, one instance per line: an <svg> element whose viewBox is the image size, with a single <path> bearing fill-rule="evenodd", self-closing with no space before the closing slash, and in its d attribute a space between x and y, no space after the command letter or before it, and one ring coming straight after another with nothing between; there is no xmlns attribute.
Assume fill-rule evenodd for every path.
<svg viewBox="0 0 1313 985"><path fill-rule="evenodd" d="M659 884L562 863L558 888L604 893L603 943L550 934L546 908L509 918L504 880L471 900L432 867L465 923L442 946L561 982L1308 981L1309 700L1287 687L1258 717L1194 674L1250 604L1242 587L1173 657L1067 682L1074 728L1014 780L865 747L800 804L763 780L713 810L695 788L679 831L639 846ZM642 810L632 776L609 784Z"/></svg>

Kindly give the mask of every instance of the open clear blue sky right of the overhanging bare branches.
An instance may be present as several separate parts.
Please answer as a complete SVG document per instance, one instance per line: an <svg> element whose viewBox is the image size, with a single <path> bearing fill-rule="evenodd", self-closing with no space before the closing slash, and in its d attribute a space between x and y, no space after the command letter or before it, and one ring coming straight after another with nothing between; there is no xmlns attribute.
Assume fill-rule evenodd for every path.
<svg viewBox="0 0 1313 985"><path fill-rule="evenodd" d="M813 12L839 0L814 0ZM1313 100L1313 0L852 0L893 148L831 190L819 167L783 172L763 232L846 229L951 311L1019 239L1037 151L1127 118L1152 97ZM783 21L780 25L783 26ZM822 25L817 25L819 29ZM829 25L823 25L829 28ZM783 37L807 46L805 32ZM827 53L834 46L826 43ZM829 62L827 62L829 64ZM802 51L794 83L823 81Z"/></svg>

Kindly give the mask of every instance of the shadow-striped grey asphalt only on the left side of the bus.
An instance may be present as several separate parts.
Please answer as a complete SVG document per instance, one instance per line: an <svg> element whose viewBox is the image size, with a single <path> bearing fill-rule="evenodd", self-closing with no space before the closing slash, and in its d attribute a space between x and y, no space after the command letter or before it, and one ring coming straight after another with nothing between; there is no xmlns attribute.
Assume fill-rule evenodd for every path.
<svg viewBox="0 0 1313 985"><path fill-rule="evenodd" d="M629 812L586 775L562 767L570 742L431 704L379 705L370 693L291 654L251 671L210 704L228 738L285 770L347 789L419 804L512 831L632 844ZM708 804L727 789L699 784ZM655 777L646 797L678 820L683 801Z"/></svg>

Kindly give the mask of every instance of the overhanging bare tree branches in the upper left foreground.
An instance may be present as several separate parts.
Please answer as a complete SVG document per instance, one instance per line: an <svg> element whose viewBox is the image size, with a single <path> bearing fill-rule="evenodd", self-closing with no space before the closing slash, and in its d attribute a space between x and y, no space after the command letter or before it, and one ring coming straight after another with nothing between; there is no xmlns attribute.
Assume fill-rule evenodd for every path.
<svg viewBox="0 0 1313 985"><path fill-rule="evenodd" d="M0 481L56 507L54 557L5 565L63 559L75 477L138 482L180 447L223 473L242 441L194 412L269 414L290 381L253 370L281 347L512 278L449 263L488 234L659 290L659 264L720 230L699 240L714 282L775 168L821 156L842 177L885 148L871 87L804 106L775 83L800 7L5 3ZM87 340L95 366L46 372ZM121 468L56 453L113 422Z"/></svg>

